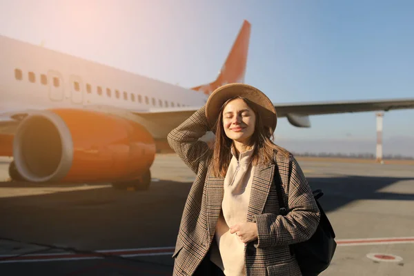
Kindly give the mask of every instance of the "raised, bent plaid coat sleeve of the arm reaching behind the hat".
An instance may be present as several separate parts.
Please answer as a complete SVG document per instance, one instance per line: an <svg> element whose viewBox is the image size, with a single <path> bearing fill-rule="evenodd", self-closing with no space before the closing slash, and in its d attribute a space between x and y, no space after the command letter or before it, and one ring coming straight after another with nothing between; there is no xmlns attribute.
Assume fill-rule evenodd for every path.
<svg viewBox="0 0 414 276"><path fill-rule="evenodd" d="M203 106L177 128L168 133L168 144L186 165L197 174L199 164L205 161L210 148L205 141L199 140L209 131L206 118L206 107Z"/></svg>

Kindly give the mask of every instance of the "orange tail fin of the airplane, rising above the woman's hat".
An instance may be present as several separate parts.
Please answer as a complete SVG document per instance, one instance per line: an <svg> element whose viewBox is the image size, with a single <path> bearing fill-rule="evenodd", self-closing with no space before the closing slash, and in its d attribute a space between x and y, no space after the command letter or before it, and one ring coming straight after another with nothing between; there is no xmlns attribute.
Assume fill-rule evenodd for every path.
<svg viewBox="0 0 414 276"><path fill-rule="evenodd" d="M246 72L248 43L250 40L250 23L248 21L243 22L243 26L239 31L233 48L220 70L219 76L212 83L204 84L191 88L193 90L204 92L206 95L210 95L216 88L223 86L226 83L242 83L244 82L244 74Z"/></svg>

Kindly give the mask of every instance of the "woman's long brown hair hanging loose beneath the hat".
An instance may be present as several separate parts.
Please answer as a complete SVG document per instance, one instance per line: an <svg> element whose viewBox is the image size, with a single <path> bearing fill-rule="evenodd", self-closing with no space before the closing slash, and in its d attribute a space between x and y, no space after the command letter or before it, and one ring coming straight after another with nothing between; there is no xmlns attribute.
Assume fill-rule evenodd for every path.
<svg viewBox="0 0 414 276"><path fill-rule="evenodd" d="M223 110L227 104L234 99L242 99L247 104L247 106L251 108L253 112L255 112L256 115L255 131L250 137L250 141L248 143L248 146L254 146L252 164L257 165L259 162L263 162L263 164L270 164L274 159L274 150L277 150L277 152L282 153L282 155L286 157L290 155L290 152L288 152L286 149L273 143L271 140L273 139L272 130L269 127L263 125L260 113L255 107L255 103L244 97L233 97L228 99L221 106L219 118L213 127L213 129L215 129L215 141L213 145L213 157L211 161L213 163L213 175L216 177L226 176L226 172L232 156L230 150L233 144L233 140L228 138L226 132L224 132Z"/></svg>

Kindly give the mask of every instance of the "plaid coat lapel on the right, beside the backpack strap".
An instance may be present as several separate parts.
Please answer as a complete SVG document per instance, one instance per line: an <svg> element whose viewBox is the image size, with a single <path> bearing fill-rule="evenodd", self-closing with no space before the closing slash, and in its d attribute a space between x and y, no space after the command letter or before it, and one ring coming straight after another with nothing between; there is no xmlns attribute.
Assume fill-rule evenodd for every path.
<svg viewBox="0 0 414 276"><path fill-rule="evenodd" d="M272 184L274 171L275 164L259 164L255 167L255 175L253 176L250 190L250 202L247 210L247 221L252 221L253 215L259 215L263 212L264 204L266 204Z"/></svg>

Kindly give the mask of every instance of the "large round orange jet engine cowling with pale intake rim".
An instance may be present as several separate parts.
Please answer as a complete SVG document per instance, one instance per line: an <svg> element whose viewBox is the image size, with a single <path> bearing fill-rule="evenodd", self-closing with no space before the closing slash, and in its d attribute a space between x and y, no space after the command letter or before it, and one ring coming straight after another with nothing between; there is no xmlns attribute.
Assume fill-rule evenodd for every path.
<svg viewBox="0 0 414 276"><path fill-rule="evenodd" d="M155 141L143 126L116 115L47 110L21 121L13 156L27 181L126 181L149 170Z"/></svg>

